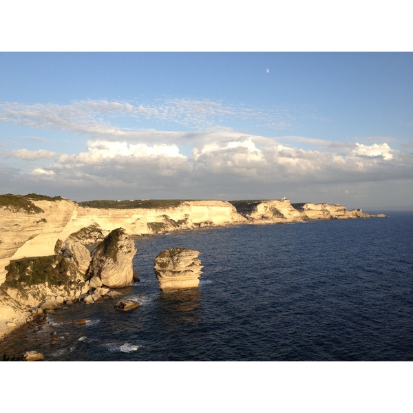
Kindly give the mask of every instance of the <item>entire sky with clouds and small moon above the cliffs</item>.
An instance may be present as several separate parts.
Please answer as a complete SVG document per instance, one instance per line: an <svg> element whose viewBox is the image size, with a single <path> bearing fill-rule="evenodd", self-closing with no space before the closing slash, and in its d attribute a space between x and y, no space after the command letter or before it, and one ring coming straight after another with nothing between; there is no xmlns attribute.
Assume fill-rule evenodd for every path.
<svg viewBox="0 0 413 413"><path fill-rule="evenodd" d="M410 52L2 52L0 79L0 193L413 208Z"/></svg>

